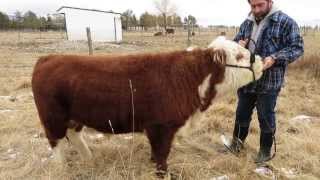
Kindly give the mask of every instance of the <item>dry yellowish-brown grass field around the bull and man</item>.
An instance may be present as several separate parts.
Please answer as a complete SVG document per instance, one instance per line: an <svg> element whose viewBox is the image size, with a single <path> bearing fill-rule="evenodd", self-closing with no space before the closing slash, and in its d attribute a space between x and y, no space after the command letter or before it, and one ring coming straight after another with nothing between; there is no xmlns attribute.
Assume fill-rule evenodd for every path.
<svg viewBox="0 0 320 180"><path fill-rule="evenodd" d="M205 47L218 32L197 32L192 44ZM63 33L0 32L0 179L156 179L143 134L102 135L85 129L93 151L91 163L78 161L72 145L67 165L59 169L37 115L30 80L39 56L87 54L86 42L68 42ZM234 32L228 32L232 37ZM168 51L186 48L186 33L153 37L152 33L124 33L121 44L94 43L95 54ZM253 157L259 147L256 114L240 157L224 151L221 133L231 135L235 94L217 100L189 129L177 136L168 159L176 179L320 179L320 33L305 38L305 55L291 64L277 104L277 155L269 162L272 176L255 173ZM296 116L308 118L293 120ZM170 177L166 177L169 179Z"/></svg>

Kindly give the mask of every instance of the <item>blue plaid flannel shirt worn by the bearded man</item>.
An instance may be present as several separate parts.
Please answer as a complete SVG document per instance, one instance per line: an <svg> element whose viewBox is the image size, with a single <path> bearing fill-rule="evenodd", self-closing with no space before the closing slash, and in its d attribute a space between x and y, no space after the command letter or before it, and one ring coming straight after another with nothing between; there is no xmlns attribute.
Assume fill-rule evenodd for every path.
<svg viewBox="0 0 320 180"><path fill-rule="evenodd" d="M273 57L275 63L263 72L259 80L242 87L246 92L280 90L284 83L287 65L304 52L299 26L292 18L281 11L277 11L267 18L256 42L255 52L262 59L268 56ZM252 20L246 19L241 24L234 41L249 39L253 23Z"/></svg>

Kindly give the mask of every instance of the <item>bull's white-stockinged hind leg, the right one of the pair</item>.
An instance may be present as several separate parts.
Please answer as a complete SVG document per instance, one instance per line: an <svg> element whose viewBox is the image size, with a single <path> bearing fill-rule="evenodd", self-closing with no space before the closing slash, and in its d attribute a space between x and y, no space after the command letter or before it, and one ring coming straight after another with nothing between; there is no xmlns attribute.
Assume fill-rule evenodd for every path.
<svg viewBox="0 0 320 180"><path fill-rule="evenodd" d="M75 124L75 122L71 121L75 127L69 128L67 131L67 138L69 139L70 143L77 149L80 153L81 158L84 161L88 161L92 158L92 153L83 139L82 136L82 125Z"/></svg>

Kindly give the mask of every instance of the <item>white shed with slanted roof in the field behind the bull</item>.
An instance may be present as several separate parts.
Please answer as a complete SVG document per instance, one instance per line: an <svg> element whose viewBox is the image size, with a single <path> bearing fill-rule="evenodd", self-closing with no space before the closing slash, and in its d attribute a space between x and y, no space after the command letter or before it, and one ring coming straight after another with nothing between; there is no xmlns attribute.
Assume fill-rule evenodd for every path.
<svg viewBox="0 0 320 180"><path fill-rule="evenodd" d="M122 41L121 13L62 6L57 12L64 14L68 40L87 40L86 28L92 41Z"/></svg>

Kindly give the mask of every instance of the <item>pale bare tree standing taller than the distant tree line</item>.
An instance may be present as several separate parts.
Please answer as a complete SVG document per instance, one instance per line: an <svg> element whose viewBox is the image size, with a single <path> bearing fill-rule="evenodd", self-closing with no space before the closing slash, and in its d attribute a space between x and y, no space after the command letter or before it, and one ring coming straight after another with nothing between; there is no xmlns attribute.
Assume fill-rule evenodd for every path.
<svg viewBox="0 0 320 180"><path fill-rule="evenodd" d="M175 14L177 8L170 0L155 0L154 1L157 10L163 17L164 29L167 29L167 17Z"/></svg>

